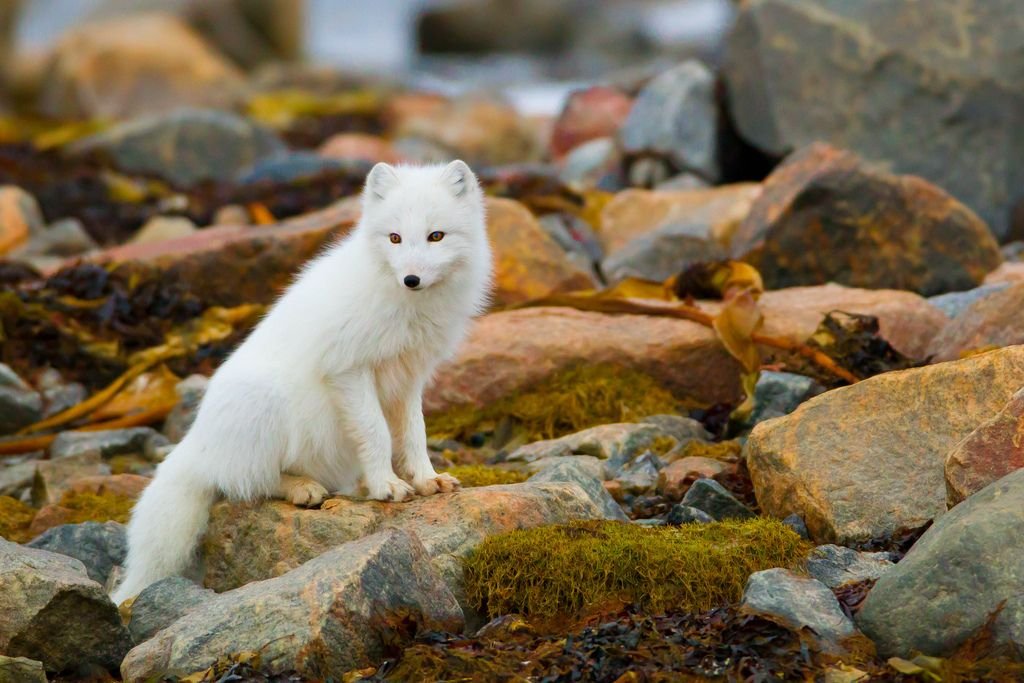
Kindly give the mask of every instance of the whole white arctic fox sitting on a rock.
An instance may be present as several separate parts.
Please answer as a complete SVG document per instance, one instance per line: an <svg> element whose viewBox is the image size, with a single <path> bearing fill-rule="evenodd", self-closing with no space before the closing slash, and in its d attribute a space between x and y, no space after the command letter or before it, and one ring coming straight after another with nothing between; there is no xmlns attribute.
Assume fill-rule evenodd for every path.
<svg viewBox="0 0 1024 683"><path fill-rule="evenodd" d="M421 399L486 306L490 262L464 162L377 164L358 224L213 375L135 505L115 602L188 567L218 496L315 506L329 492L402 501L458 488L430 464Z"/></svg>

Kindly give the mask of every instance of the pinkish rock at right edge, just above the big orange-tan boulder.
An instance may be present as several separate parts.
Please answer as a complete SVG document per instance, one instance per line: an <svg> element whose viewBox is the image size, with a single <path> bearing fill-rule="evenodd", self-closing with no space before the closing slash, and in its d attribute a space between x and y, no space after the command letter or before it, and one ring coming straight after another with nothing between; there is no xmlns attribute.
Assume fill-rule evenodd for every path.
<svg viewBox="0 0 1024 683"><path fill-rule="evenodd" d="M929 355L952 360L968 351L1024 344L1024 282L968 306L932 340Z"/></svg>

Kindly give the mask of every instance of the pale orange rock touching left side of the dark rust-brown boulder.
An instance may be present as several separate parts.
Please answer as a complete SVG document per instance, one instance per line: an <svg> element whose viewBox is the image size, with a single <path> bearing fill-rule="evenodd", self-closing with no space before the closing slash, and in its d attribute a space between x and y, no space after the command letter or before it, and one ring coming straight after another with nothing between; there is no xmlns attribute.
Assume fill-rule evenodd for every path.
<svg viewBox="0 0 1024 683"><path fill-rule="evenodd" d="M750 182L708 189L627 189L601 211L601 240L609 256L654 232L688 234L727 247L760 194L761 185Z"/></svg>

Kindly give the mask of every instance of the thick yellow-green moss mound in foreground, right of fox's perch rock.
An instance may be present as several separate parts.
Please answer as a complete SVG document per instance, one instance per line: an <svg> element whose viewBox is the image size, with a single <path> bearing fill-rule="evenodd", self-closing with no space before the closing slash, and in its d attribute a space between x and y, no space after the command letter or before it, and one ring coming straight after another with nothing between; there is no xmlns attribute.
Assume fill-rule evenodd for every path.
<svg viewBox="0 0 1024 683"><path fill-rule="evenodd" d="M497 616L553 617L626 602L706 610L737 601L754 571L797 566L810 546L757 518L645 528L588 521L511 531L466 560L466 595Z"/></svg>

